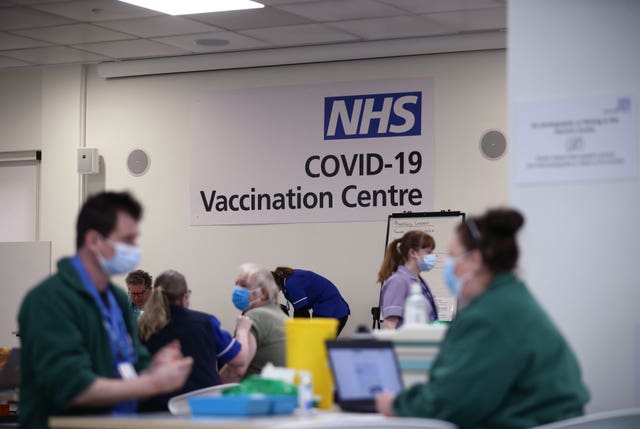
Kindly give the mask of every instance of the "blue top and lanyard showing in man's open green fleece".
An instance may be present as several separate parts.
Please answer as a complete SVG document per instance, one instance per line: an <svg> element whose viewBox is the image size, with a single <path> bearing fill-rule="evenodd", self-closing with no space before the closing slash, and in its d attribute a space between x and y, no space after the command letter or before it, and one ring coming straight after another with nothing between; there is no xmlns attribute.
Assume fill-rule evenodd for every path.
<svg viewBox="0 0 640 429"><path fill-rule="evenodd" d="M80 261L78 255L74 256L71 259L71 262L80 275L80 279L82 280L85 289L93 297L93 300L100 309L103 326L105 331L107 332L107 336L109 337L109 344L111 346L111 354L113 356L114 362L114 371L115 366L117 366L119 363L135 363L136 354L135 350L133 349L131 336L127 332L127 328L124 323L124 316L122 315L122 310L120 309L120 306L118 305L113 292L111 292L111 290L107 288L107 308L107 305L105 305L105 302L100 297L98 290L93 284L91 277L89 277L89 273L82 264L82 261ZM115 371L115 373L117 374L117 371Z"/></svg>

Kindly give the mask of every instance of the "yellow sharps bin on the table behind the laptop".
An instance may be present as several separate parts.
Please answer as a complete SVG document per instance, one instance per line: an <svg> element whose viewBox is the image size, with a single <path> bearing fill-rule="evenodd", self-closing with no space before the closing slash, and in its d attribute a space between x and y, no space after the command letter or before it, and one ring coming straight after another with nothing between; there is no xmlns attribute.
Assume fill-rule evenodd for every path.
<svg viewBox="0 0 640 429"><path fill-rule="evenodd" d="M285 323L287 336L287 367L309 371L313 393L320 396L319 408L333 407L333 377L329 368L325 340L336 338L336 319L288 319Z"/></svg>

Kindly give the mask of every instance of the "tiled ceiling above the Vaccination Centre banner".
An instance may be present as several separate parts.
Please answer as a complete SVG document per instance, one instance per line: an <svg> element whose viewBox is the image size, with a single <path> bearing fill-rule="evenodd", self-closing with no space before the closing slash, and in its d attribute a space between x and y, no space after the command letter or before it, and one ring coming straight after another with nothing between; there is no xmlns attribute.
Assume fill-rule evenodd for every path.
<svg viewBox="0 0 640 429"><path fill-rule="evenodd" d="M0 0L0 69L319 46L366 46L370 57L417 44L446 52L464 50L448 38L502 40L506 29L506 0L258 1L265 7L170 16L117 0Z"/></svg>

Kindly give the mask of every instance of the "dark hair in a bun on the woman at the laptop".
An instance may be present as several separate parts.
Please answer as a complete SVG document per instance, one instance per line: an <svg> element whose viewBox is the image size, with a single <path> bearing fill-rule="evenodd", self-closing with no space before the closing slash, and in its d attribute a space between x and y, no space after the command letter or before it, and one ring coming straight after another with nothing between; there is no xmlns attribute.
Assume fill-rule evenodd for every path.
<svg viewBox="0 0 640 429"><path fill-rule="evenodd" d="M524 217L514 209L488 210L484 215L470 217L456 228L466 250L478 249L484 265L493 274L511 271L518 263L516 232L524 225Z"/></svg>

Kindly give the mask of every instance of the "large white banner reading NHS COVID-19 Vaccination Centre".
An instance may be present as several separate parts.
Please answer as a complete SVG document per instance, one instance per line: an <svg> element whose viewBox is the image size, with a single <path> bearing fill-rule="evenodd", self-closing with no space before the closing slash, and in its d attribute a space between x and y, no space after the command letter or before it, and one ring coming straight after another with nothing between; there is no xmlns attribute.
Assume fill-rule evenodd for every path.
<svg viewBox="0 0 640 429"><path fill-rule="evenodd" d="M211 92L192 118L192 225L433 209L431 79Z"/></svg>

